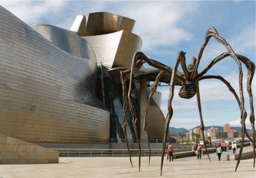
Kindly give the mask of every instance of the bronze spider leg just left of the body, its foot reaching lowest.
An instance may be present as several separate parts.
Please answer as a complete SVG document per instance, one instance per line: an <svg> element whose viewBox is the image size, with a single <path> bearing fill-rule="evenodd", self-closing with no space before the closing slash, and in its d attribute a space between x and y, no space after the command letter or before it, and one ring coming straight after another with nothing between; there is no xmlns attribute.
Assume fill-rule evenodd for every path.
<svg viewBox="0 0 256 178"><path fill-rule="evenodd" d="M163 150L162 150L162 156L161 156L161 175L163 172L163 161L164 161L164 151L165 151L165 146L166 146L166 138L168 136L169 124L170 124L170 121L171 121L172 115L173 115L172 100L173 100L173 94L174 94L175 79L177 76L176 73L177 73L177 68L179 66L180 60L184 57L185 57L185 53L180 51L175 60L175 65L172 70L172 77L170 80L170 94L168 97L168 114L166 116L166 122L165 122L165 128L164 128Z"/></svg>

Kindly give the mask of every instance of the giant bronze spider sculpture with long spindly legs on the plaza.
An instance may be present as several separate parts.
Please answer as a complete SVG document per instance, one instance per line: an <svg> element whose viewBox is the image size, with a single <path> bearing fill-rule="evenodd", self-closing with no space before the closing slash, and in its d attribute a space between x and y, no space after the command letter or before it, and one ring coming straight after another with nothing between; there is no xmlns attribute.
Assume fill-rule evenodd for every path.
<svg viewBox="0 0 256 178"><path fill-rule="evenodd" d="M200 64L200 60L202 57L202 54L204 52L204 48L209 42L210 38L214 37L218 42L220 42L222 45L224 45L225 48L227 48L227 52L224 52L223 54L220 54L220 56L215 57L211 63L209 63L204 70L202 70L200 73L198 73L198 66ZM230 45L223 39L216 29L214 27L210 27L207 33L205 34L205 40L204 43L202 44L200 48L200 52L198 54L197 59L193 57L191 59L191 64L188 66L186 65L186 58L185 58L185 52L180 51L177 55L176 61L175 61L175 66L173 68L170 68L162 63L159 63L153 59L148 59L145 54L142 52L136 52L134 54L134 58L132 60L132 65L131 68L129 68L126 71L120 71L120 78L122 81L122 89L123 89L123 100L124 100L124 108L123 108L123 129L125 133L125 141L127 145L127 149L129 152L130 156L130 162L132 165L132 160L131 160L131 154L129 151L129 144L127 140L127 120L126 120L126 110L127 110L127 105L129 105L129 110L132 115L132 124L134 126L134 132L139 148L139 172L140 172L140 163L141 163L141 146L140 142L138 139L138 133L137 133L137 122L138 118L136 117L136 114L134 113L133 106L132 106L132 100L131 100L131 89L132 89L132 80L134 78L134 73L136 70L140 70L140 68L143 66L144 63L148 63L150 66L156 68L159 70L159 73L156 77L156 80L154 84L152 85L150 89L150 94L148 96L148 101L147 101L147 107L145 109L145 118L144 118L144 124L143 128L145 131L146 138L148 139L148 133L147 133L147 112L149 108L149 102L152 99L153 94L155 93L157 89L157 85L159 84L159 81L161 80L161 76L163 73L168 73L171 78L170 78L170 95L168 98L168 114L166 116L166 123L164 127L164 139L163 139L163 151L161 154L161 175L162 175L162 170L163 170L163 160L164 160L164 151L165 151L165 146L166 146L166 138L168 137L168 128L170 124L170 120L172 119L173 115L173 108L172 108L172 100L173 100L173 91L175 85L180 85L180 91L179 91L179 96L180 98L192 98L193 96L196 95L197 103L198 103L198 110L199 110L199 115L200 115L200 130L202 133L204 133L204 121L202 118L202 110L201 110L201 102L200 102L200 92L199 92L199 81L200 80L205 80L209 78L214 78L218 79L221 82L223 82L228 90L234 95L236 98L237 104L239 105L240 109L240 117L241 117L241 132L242 132L242 140L241 140L241 149L239 151L239 158L237 159L237 164L236 164L236 170L239 165L240 159L241 159L241 154L243 152L243 145L244 145L244 135L246 135L249 140L253 143L253 167L255 167L255 116L254 116L254 111L253 111L253 95L252 95L252 79L255 71L255 64L250 61L250 59L241 56L239 54L235 54L234 50ZM219 76L219 75L205 75L207 71L209 71L214 64L218 63L221 60L226 59L226 57L232 57L234 61L236 61L237 66L239 68L239 95L236 93L236 91L233 89L233 87L230 85L230 83L225 80L225 78ZM252 126L252 133L253 136L252 138L248 135L246 131L246 126L245 126L245 119L247 117L246 110L244 109L244 94L243 94L243 69L241 66L241 63L244 64L247 68L247 91L248 91L248 96L250 98L250 124ZM177 70L179 64L182 67L183 72L180 72ZM129 76L128 76L129 75ZM126 93L127 88L126 88L126 79L129 77L129 90L128 93ZM126 97L127 96L127 97ZM127 99L128 98L128 101ZM204 140L204 145L205 143L205 137L204 134L203 140ZM148 140L147 140L148 142ZM150 144L148 142L148 147L149 147L149 153L151 154L151 149L150 149ZM207 147L205 147L205 151L207 152ZM150 154L149 154L149 163L150 163ZM209 154L207 152L207 156L209 158ZM210 162L211 159L209 158ZM235 171L236 171L235 170Z"/></svg>

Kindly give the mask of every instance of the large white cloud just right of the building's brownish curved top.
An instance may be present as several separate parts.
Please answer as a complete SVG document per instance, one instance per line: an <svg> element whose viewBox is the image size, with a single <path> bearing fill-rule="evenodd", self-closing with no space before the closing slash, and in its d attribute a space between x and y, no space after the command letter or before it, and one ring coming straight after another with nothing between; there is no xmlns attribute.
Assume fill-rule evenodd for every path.
<svg viewBox="0 0 256 178"><path fill-rule="evenodd" d="M191 40L182 24L182 18L196 11L196 3L178 1L138 1L129 2L120 10L124 16L136 20L134 33L143 39L143 51L152 52L157 46L175 45ZM132 13L131 13L132 9Z"/></svg>

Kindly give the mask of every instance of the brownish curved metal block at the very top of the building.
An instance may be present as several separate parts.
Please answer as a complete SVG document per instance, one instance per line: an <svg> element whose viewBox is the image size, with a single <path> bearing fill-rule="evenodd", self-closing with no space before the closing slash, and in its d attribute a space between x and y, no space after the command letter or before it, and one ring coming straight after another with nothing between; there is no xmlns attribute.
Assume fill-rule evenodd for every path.
<svg viewBox="0 0 256 178"><path fill-rule="evenodd" d="M115 33L117 31L132 32L135 20L122 17L116 13L90 13L86 25L85 36Z"/></svg>

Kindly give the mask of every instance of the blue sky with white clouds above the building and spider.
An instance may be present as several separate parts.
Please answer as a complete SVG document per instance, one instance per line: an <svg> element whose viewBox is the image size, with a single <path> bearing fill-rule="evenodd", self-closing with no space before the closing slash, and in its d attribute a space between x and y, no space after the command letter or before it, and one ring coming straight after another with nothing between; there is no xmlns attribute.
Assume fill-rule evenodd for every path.
<svg viewBox="0 0 256 178"><path fill-rule="evenodd" d="M51 24L65 29L70 29L76 15L97 11L118 13L136 20L133 33L143 40L141 51L171 67L179 50L186 52L187 63L191 57L197 57L207 29L214 26L236 53L255 63L255 1L0 1L0 5L28 25ZM223 45L212 38L205 48L199 71L225 51ZM246 72L244 68L244 86ZM209 74L226 78L239 94L234 60L221 61ZM252 87L255 99L255 78ZM166 115L169 87L159 87L158 91L162 93L161 109ZM200 125L196 97L184 100L178 92L179 87L175 87L170 126L189 129ZM236 100L220 81L200 82L200 96L205 126L240 125ZM244 97L246 110L250 112L245 87ZM255 105L255 100L253 102Z"/></svg>

